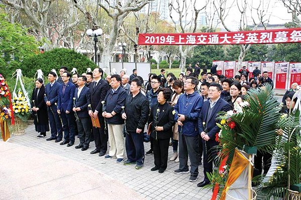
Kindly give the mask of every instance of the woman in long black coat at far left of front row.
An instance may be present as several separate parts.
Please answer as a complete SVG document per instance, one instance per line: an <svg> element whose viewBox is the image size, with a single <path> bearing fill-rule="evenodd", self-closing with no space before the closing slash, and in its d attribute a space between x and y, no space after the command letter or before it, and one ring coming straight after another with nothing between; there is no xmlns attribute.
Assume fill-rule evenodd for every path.
<svg viewBox="0 0 301 200"><path fill-rule="evenodd" d="M36 131L40 134L38 138L46 137L46 132L49 131L47 106L44 101L45 87L42 79L36 80L36 88L32 95L32 107L34 114L34 123Z"/></svg>

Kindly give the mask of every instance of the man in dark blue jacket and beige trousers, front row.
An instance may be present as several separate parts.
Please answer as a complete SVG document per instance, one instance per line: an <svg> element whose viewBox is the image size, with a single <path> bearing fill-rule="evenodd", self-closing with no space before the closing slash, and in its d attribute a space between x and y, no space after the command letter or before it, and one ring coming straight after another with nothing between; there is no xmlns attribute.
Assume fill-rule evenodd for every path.
<svg viewBox="0 0 301 200"><path fill-rule="evenodd" d="M117 74L111 76L111 87L104 98L104 112L102 116L106 118L108 124L110 150L109 154L104 156L106 159L116 158L117 163L124 158L124 139L123 124L121 118L122 106L124 106L127 96L121 85L121 77Z"/></svg>

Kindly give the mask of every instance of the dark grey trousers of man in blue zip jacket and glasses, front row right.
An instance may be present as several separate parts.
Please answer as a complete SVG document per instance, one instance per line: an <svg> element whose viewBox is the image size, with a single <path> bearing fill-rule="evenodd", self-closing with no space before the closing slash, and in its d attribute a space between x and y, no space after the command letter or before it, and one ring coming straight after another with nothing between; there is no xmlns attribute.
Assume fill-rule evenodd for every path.
<svg viewBox="0 0 301 200"><path fill-rule="evenodd" d="M187 136L179 133L179 169L188 171L188 156L191 163L191 175L199 174L199 136Z"/></svg>

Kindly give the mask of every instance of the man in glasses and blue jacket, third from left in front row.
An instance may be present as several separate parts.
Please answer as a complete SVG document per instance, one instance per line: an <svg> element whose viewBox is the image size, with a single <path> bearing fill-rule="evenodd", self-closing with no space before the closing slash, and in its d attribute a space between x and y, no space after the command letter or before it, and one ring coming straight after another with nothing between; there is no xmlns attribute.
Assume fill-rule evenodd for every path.
<svg viewBox="0 0 301 200"><path fill-rule="evenodd" d="M62 74L63 84L60 86L58 98L58 113L63 121L64 141L60 145L72 146L75 140L75 117L72 110L75 85L70 82L71 74Z"/></svg>

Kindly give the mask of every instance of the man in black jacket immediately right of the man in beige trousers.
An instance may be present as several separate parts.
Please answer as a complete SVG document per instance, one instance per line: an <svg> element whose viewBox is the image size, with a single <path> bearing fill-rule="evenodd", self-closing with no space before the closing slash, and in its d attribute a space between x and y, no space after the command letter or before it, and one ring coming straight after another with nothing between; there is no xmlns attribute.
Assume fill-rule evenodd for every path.
<svg viewBox="0 0 301 200"><path fill-rule="evenodd" d="M125 149L127 160L124 165L136 163L140 169L144 163L143 130L149 114L149 103L140 92L142 83L138 78L131 81L130 94L125 99L122 118L125 119Z"/></svg>

